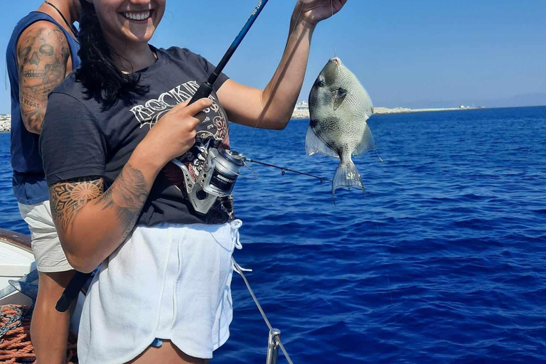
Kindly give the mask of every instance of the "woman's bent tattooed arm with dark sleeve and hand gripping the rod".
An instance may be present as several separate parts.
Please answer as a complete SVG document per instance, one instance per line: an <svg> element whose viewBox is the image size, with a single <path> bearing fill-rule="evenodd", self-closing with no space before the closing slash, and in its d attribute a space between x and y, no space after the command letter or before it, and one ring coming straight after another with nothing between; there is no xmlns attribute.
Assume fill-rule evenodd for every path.
<svg viewBox="0 0 546 364"><path fill-rule="evenodd" d="M63 105L70 100L73 99L66 95L60 97L53 93L50 96L48 120L40 144L50 183L51 213L60 243L75 269L91 272L132 231L161 168L195 144L196 127L204 117L199 112L210 107L212 101L207 97L192 105L185 102L164 114L134 149L112 186L103 193L104 183L100 177L59 182L63 173L80 173L86 166L90 174L102 173L106 163L103 150L106 145L102 143L100 131L94 129L95 122L73 123L73 109L70 114L63 112ZM85 110L81 109L79 114L85 115ZM82 140L82 136L86 140ZM91 155L91 162L81 152L74 153L74 149L85 150L84 154Z"/></svg>

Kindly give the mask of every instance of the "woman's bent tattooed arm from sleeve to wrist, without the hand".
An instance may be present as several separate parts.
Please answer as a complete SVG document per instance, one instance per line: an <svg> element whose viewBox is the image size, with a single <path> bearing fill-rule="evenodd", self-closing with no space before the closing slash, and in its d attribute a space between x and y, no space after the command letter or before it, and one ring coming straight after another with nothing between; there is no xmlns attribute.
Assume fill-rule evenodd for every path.
<svg viewBox="0 0 546 364"><path fill-rule="evenodd" d="M129 235L159 172L159 165L135 149L112 186L102 177L61 181L50 186L51 213L68 262L92 272Z"/></svg>

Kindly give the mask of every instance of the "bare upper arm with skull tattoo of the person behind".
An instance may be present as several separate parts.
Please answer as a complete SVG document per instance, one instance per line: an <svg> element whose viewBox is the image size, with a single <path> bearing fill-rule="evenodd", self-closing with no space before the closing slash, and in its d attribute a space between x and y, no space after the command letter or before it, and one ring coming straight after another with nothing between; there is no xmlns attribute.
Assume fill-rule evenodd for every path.
<svg viewBox="0 0 546 364"><path fill-rule="evenodd" d="M48 93L72 69L65 34L49 21L33 23L19 37L17 63L23 123L29 132L40 134Z"/></svg>

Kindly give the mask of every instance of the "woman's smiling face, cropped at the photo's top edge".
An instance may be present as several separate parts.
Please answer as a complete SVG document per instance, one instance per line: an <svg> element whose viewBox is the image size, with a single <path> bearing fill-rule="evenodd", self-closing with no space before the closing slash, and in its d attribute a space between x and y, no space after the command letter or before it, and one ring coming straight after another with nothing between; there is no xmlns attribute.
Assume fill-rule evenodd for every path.
<svg viewBox="0 0 546 364"><path fill-rule="evenodd" d="M87 0L95 6L111 43L147 43L165 12L166 0ZM114 44L112 44L114 45Z"/></svg>

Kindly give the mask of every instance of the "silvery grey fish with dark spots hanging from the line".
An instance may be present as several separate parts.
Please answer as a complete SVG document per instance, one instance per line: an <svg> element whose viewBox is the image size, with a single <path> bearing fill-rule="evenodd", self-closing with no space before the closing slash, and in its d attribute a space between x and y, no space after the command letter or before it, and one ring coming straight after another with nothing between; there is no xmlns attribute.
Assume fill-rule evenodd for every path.
<svg viewBox="0 0 546 364"><path fill-rule="evenodd" d="M307 155L321 153L341 160L332 181L334 203L338 187L360 188L365 193L351 157L375 149L366 122L373 114L373 104L358 78L339 58L328 60L316 78L309 94L309 114Z"/></svg>

